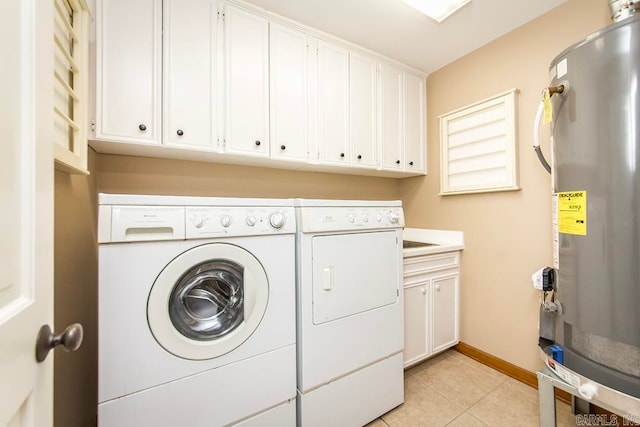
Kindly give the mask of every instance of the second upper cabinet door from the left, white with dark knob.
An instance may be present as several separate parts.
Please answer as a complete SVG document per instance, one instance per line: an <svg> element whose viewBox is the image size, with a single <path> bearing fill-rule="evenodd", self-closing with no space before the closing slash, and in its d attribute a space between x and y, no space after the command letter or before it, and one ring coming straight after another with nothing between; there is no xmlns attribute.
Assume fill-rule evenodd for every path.
<svg viewBox="0 0 640 427"><path fill-rule="evenodd" d="M215 147L216 3L164 1L164 142Z"/></svg>

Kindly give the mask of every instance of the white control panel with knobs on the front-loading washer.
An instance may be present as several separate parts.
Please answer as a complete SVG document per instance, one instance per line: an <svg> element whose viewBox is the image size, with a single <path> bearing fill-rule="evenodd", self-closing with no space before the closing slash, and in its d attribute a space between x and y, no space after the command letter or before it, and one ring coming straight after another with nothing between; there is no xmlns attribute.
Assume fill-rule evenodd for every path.
<svg viewBox="0 0 640 427"><path fill-rule="evenodd" d="M294 233L295 214L289 207L185 208L187 239Z"/></svg>

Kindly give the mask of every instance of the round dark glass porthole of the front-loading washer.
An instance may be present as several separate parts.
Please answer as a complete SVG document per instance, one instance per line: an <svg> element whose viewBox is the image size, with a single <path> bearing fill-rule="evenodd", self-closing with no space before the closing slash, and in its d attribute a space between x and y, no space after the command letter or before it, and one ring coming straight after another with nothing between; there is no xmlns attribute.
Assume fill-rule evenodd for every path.
<svg viewBox="0 0 640 427"><path fill-rule="evenodd" d="M242 324L244 304L243 267L229 260L209 260L176 282L169 298L169 318L185 337L211 341Z"/></svg>

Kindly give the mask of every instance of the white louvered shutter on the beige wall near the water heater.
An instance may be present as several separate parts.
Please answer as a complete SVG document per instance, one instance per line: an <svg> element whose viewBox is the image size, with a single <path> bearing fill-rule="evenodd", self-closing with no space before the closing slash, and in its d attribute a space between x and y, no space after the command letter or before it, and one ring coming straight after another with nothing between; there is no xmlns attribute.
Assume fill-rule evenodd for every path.
<svg viewBox="0 0 640 427"><path fill-rule="evenodd" d="M440 194L518 190L517 89L439 117Z"/></svg>

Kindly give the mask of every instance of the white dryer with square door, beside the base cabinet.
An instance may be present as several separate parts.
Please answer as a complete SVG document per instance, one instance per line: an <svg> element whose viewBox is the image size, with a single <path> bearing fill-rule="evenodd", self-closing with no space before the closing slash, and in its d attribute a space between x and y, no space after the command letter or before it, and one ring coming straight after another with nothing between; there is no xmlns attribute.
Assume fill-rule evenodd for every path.
<svg viewBox="0 0 640 427"><path fill-rule="evenodd" d="M362 426L404 401L402 204L294 204L298 425Z"/></svg>

